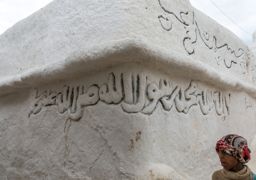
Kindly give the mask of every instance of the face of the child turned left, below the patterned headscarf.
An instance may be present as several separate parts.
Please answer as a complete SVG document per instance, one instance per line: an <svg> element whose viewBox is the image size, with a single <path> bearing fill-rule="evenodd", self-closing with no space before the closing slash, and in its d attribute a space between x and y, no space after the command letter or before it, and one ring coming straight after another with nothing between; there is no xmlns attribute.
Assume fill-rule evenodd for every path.
<svg viewBox="0 0 256 180"><path fill-rule="evenodd" d="M237 172L241 170L242 163L234 156L219 148L219 158L224 169Z"/></svg>

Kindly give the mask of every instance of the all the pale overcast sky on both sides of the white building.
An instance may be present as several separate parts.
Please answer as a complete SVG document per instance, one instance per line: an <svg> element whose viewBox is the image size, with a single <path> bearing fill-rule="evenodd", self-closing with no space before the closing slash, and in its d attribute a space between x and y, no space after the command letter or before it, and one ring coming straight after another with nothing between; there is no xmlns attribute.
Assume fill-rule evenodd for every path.
<svg viewBox="0 0 256 180"><path fill-rule="evenodd" d="M0 0L0 34L50 2L52 0ZM256 31L256 0L212 0L212 2L249 34L252 35ZM235 25L212 2L211 0L190 0L191 5L250 45L252 36Z"/></svg>

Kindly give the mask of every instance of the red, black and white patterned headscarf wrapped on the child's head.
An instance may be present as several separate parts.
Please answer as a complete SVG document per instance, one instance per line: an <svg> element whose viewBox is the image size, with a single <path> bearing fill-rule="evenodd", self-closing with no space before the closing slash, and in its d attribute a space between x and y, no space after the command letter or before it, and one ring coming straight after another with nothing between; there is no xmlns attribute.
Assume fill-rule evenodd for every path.
<svg viewBox="0 0 256 180"><path fill-rule="evenodd" d="M243 164L250 160L250 149L248 149L247 141L239 135L229 134L222 137L216 143L216 152L218 154L219 148L233 155Z"/></svg>

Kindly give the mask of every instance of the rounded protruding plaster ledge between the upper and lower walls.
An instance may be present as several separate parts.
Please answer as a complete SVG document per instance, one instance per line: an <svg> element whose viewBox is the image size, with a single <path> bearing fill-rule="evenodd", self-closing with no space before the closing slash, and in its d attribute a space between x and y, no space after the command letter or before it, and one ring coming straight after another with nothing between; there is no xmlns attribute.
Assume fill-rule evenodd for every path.
<svg viewBox="0 0 256 180"><path fill-rule="evenodd" d="M248 93L256 98L256 87L232 75L224 74L205 63L139 39L121 39L84 47L66 59L0 79L0 95L53 81L72 79L83 74L102 71L122 63L154 66L167 74L206 82L220 89Z"/></svg>

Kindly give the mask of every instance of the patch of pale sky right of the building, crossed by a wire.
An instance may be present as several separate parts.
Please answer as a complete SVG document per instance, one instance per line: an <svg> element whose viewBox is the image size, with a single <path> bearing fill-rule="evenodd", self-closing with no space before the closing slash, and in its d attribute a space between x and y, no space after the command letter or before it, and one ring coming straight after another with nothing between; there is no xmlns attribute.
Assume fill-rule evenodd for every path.
<svg viewBox="0 0 256 180"><path fill-rule="evenodd" d="M256 31L255 0L212 0L212 2L250 35ZM190 0L192 6L232 31L247 45L250 45L252 36L235 25L212 2L210 0Z"/></svg>

